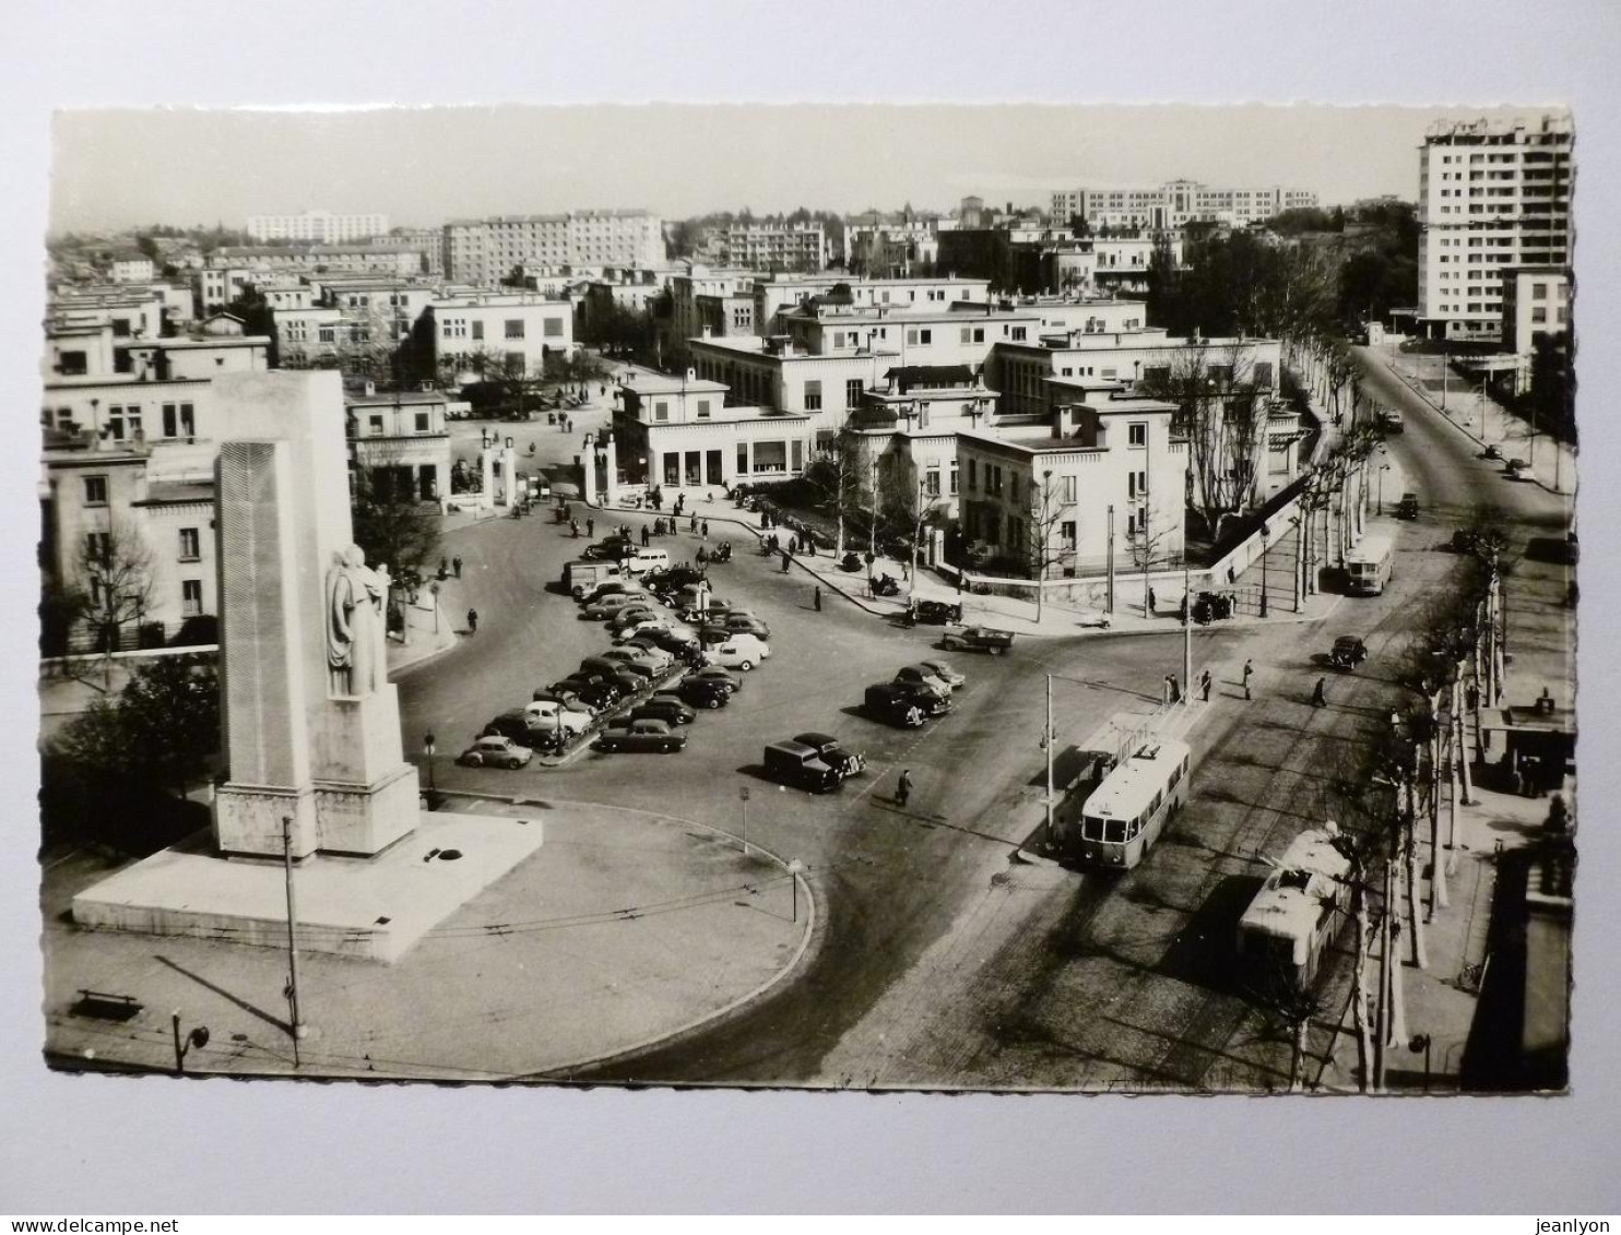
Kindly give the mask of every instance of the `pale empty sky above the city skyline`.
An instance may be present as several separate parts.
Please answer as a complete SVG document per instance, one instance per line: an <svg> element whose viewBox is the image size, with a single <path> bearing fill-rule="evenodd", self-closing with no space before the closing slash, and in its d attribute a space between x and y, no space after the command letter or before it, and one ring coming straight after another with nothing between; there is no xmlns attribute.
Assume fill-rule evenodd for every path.
<svg viewBox="0 0 1621 1235"><path fill-rule="evenodd" d="M1499 110L1533 120L1540 109ZM381 211L394 225L601 206L705 211L1047 204L1055 188L1315 190L1415 198L1417 146L1482 109L579 105L65 110L53 232L240 227L250 214Z"/></svg>

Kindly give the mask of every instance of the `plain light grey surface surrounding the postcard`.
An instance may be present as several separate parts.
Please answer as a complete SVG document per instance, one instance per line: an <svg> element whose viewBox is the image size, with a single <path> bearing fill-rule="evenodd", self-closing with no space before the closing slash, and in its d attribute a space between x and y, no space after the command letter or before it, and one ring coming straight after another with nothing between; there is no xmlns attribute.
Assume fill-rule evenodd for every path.
<svg viewBox="0 0 1621 1235"><path fill-rule="evenodd" d="M1611 480L1621 358L1618 13L1610 0L8 6L0 52L0 391L8 426L0 452L0 1209L1621 1209L1621 760L1610 736L1621 689ZM1574 1097L488 1091L65 1078L44 1070L32 543L50 109L658 99L1302 99L1574 109L1580 519L1589 549ZM514 157L545 159L545 151ZM746 164L749 151L736 157ZM444 173L454 175L451 169L447 162ZM1407 196L1417 194L1417 154L1412 169ZM807 206L822 204L804 196ZM987 188L984 196L1008 194ZM1036 193L1012 196L1044 201ZM323 204L318 186L310 204Z"/></svg>

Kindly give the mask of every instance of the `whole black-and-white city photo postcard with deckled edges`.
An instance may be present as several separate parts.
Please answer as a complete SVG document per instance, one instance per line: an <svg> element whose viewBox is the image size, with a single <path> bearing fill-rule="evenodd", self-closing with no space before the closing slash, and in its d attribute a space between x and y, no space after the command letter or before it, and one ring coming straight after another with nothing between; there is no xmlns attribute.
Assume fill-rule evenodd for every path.
<svg viewBox="0 0 1621 1235"><path fill-rule="evenodd" d="M52 175L50 1068L1571 1084L1569 112L63 110Z"/></svg>

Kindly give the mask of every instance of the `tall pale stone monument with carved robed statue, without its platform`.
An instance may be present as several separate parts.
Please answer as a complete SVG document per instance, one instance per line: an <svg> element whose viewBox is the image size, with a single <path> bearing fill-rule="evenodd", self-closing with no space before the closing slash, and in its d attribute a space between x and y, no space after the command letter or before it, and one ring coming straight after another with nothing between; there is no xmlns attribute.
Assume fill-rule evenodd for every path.
<svg viewBox="0 0 1621 1235"><path fill-rule="evenodd" d="M353 543L337 373L216 378L224 854L374 854L417 825L386 673L387 574Z"/></svg>

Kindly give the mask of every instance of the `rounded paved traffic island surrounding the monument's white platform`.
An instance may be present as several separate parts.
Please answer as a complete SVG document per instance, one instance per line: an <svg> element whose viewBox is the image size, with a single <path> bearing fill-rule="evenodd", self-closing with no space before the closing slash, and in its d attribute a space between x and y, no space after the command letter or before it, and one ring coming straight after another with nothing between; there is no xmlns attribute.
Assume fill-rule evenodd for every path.
<svg viewBox="0 0 1621 1235"><path fill-rule="evenodd" d="M308 1032L297 1057L285 947L84 930L66 911L109 874L105 861L84 853L52 867L47 1057L60 1068L173 1071L178 1011L186 1032L209 1029L185 1057L191 1073L566 1078L759 998L810 938L806 882L723 831L587 802L449 797L451 810L514 827L540 820L545 846L392 964L302 951ZM128 997L139 1011L115 1023L83 990Z"/></svg>

